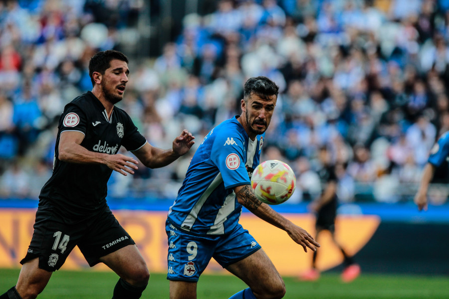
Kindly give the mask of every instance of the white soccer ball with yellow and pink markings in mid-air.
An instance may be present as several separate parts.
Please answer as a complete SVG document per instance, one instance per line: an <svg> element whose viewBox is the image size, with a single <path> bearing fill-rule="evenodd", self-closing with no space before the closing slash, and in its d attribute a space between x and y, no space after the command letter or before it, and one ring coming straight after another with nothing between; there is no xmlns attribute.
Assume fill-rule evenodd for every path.
<svg viewBox="0 0 449 299"><path fill-rule="evenodd" d="M293 194L296 176L288 164L279 160L266 160L254 169L251 187L260 201L280 204Z"/></svg>

